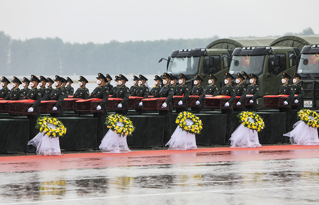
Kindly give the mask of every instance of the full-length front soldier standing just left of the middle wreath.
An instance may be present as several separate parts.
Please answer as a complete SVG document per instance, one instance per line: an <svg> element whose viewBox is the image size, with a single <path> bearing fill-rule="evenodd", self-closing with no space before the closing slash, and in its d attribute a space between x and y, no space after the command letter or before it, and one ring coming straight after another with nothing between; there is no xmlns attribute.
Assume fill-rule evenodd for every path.
<svg viewBox="0 0 319 205"><path fill-rule="evenodd" d="M156 78L156 76L155 76ZM162 104L162 108L169 107L169 110L159 110L159 116L165 116L164 122L164 145L167 144L171 138L171 118L173 114L172 99L174 96L174 88L171 86L172 77L168 73L161 75L164 86L160 88L153 98L166 97L165 102Z"/></svg>

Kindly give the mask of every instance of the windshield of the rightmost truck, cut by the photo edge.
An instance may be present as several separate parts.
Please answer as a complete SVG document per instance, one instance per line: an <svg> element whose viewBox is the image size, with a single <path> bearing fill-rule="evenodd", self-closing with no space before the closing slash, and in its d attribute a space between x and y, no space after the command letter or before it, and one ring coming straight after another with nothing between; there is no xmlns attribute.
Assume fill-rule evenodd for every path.
<svg viewBox="0 0 319 205"><path fill-rule="evenodd" d="M306 63L305 60L308 60L308 63ZM298 66L298 73L319 73L318 62L318 53L301 54L301 59Z"/></svg>

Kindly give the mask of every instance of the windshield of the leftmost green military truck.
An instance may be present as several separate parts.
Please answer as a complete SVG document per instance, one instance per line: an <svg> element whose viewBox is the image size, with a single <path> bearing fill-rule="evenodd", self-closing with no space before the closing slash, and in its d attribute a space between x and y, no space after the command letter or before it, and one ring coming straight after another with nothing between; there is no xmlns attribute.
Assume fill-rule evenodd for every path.
<svg viewBox="0 0 319 205"><path fill-rule="evenodd" d="M200 57L172 57L167 72L179 75L194 75L198 73Z"/></svg>

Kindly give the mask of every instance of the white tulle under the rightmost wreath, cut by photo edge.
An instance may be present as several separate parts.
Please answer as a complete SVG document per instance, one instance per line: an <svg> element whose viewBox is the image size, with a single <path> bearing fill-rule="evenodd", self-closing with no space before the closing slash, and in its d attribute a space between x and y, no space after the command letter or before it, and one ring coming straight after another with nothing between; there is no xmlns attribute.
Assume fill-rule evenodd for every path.
<svg viewBox="0 0 319 205"><path fill-rule="evenodd" d="M313 118L310 116L310 118ZM319 145L317 128L309 127L303 121L298 121L293 125L293 130L284 134L290 137L292 145Z"/></svg>

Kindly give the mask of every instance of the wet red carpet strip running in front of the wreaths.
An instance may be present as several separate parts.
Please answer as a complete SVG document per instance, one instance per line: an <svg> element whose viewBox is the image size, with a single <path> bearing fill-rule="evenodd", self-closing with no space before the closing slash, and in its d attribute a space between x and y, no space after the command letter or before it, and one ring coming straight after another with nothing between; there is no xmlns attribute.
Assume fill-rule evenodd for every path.
<svg viewBox="0 0 319 205"><path fill-rule="evenodd" d="M0 172L143 166L159 164L318 158L319 145L278 145L260 148L201 148L199 150L151 150L131 153L79 153L63 156L0 157Z"/></svg>

